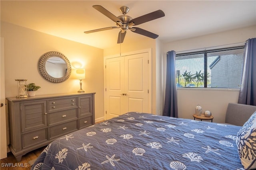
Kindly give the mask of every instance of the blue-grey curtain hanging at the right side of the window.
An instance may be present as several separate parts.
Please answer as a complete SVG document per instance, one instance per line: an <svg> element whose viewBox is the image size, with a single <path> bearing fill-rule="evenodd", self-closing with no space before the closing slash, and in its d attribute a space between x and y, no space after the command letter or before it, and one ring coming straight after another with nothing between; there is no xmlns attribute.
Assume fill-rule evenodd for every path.
<svg viewBox="0 0 256 170"><path fill-rule="evenodd" d="M238 103L256 106L256 38L248 39L245 44Z"/></svg>

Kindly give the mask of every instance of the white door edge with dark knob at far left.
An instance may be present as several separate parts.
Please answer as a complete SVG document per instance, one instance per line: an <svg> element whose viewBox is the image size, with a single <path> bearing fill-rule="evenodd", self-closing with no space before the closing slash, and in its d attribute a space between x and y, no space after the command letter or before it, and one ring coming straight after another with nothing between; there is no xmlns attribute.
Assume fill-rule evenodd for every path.
<svg viewBox="0 0 256 170"><path fill-rule="evenodd" d="M5 113L5 93L4 93L4 38L0 43L0 159L7 157L6 142L6 113Z"/></svg>

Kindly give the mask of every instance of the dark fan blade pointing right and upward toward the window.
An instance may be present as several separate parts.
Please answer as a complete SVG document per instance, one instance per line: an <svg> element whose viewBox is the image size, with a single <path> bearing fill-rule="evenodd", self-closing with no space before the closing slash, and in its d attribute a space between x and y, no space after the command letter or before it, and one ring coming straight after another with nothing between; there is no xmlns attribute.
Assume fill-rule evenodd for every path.
<svg viewBox="0 0 256 170"><path fill-rule="evenodd" d="M164 17L164 16L165 16L165 14L162 10L157 10L157 11L148 13L144 16L134 18L130 21L130 23L133 22L134 25L139 25L139 24L142 24L142 23L145 23L145 22L148 22L148 21L152 21L152 20Z"/></svg>

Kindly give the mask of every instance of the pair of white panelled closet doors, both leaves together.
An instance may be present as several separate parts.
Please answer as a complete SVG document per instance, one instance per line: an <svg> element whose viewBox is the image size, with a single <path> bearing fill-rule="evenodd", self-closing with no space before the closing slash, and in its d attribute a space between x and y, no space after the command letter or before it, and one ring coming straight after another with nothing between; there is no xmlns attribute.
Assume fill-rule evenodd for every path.
<svg viewBox="0 0 256 170"><path fill-rule="evenodd" d="M106 119L129 111L148 113L148 53L106 59Z"/></svg>

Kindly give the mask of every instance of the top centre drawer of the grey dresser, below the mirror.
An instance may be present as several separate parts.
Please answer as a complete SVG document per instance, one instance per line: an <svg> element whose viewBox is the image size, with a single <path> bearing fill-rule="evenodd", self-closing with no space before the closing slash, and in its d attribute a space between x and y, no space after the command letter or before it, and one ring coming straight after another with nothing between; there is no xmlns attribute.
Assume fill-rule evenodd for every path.
<svg viewBox="0 0 256 170"><path fill-rule="evenodd" d="M48 111L77 107L77 100L76 97L52 99L48 100L48 106Z"/></svg>

